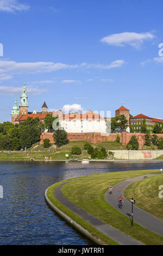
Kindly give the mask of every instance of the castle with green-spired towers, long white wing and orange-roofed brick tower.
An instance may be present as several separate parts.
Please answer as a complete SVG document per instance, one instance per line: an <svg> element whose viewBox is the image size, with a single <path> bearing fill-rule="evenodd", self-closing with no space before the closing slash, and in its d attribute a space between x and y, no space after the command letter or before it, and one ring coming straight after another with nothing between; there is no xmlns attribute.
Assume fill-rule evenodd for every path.
<svg viewBox="0 0 163 256"><path fill-rule="evenodd" d="M48 112L48 107L46 102L43 103L41 107L41 112L28 112L28 96L25 84L22 88L22 93L20 96L20 106L18 109L17 100L15 99L15 104L11 112L12 123L20 123L27 120L28 117L36 118L38 117L40 121L43 122L48 114L53 114L53 116L58 117L56 122L59 122L61 128L64 128L67 133L107 133L107 121L108 118L101 117L99 114L95 114L93 111L89 110L85 114L63 114L61 110L55 112ZM124 115L126 116L129 123L129 110L121 106L121 108L115 111L116 116ZM55 127L57 128L57 127ZM53 127L53 129L55 130ZM129 132L129 125L127 128Z"/></svg>

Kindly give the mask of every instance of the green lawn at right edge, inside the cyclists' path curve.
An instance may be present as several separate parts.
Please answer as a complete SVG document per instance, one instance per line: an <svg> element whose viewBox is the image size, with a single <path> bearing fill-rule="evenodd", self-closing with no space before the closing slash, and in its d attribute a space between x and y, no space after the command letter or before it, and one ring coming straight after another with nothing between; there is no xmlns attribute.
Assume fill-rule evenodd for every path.
<svg viewBox="0 0 163 256"><path fill-rule="evenodd" d="M124 196L129 200L132 194L138 207L163 220L163 199L159 198L160 185L163 186L163 174L143 178L130 184L124 190Z"/></svg>

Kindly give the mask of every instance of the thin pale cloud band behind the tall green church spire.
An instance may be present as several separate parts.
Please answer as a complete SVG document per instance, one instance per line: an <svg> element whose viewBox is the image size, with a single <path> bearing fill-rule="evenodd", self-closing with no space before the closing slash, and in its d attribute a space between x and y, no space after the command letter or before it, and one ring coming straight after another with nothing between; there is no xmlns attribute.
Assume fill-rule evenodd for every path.
<svg viewBox="0 0 163 256"><path fill-rule="evenodd" d="M32 86L26 86L28 95L38 95L46 93L47 89L40 89ZM7 95L20 95L22 92L22 87L14 86L0 86L0 94Z"/></svg>

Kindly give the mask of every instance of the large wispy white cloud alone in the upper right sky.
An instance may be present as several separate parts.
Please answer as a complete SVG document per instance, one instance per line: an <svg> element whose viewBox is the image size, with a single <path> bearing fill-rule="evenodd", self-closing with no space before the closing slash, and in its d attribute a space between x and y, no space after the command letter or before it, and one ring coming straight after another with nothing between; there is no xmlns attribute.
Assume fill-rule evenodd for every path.
<svg viewBox="0 0 163 256"><path fill-rule="evenodd" d="M108 37L102 38L101 42L116 46L124 46L126 44L129 44L135 48L139 48L143 44L144 40L151 40L154 37L155 36L151 32L124 32L119 34L108 35Z"/></svg>

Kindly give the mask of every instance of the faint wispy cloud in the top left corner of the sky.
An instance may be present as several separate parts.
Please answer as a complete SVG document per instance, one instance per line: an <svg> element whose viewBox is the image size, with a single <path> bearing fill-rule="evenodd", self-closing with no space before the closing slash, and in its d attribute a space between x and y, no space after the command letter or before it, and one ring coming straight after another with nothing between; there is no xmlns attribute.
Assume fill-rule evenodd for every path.
<svg viewBox="0 0 163 256"><path fill-rule="evenodd" d="M29 5L22 4L17 0L0 0L0 11L7 11L13 13L15 11L29 10Z"/></svg>

